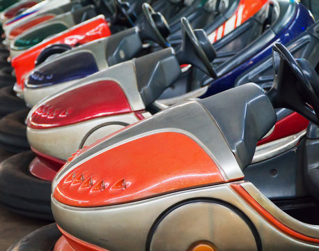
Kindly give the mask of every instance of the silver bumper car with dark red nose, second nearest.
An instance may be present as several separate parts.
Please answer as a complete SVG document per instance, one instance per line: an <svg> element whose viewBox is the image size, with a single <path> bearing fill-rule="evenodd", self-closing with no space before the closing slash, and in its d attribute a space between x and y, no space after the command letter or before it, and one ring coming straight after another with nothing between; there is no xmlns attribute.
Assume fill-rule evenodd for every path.
<svg viewBox="0 0 319 251"><path fill-rule="evenodd" d="M188 47L187 49L189 50ZM312 48L310 48L310 50L311 49ZM104 72L95 73L95 75L91 75L86 79L77 82L77 84L56 93L36 107L33 107L33 111L31 111L28 120L29 128L27 134L33 151L38 157L34 158L31 162L27 162L28 160L23 157L25 154L29 154L31 158L34 157L34 154L29 152L20 153L13 156L11 160L8 159L19 163L18 168L21 170L20 177L22 177L22 174L28 174L29 176L33 175L34 186L40 181L40 178L42 181L46 181L47 186L49 187L50 181L52 181L52 178L59 168L61 168L65 160L72 154L72 150L73 152L77 151L77 149L81 149L82 147L95 142L95 140L100 139L103 135L109 135L124 126L144 119L150 116L151 113L154 113L157 108L161 107L158 103L154 104L153 102L157 100L158 96L160 96L162 91L166 89L169 84L163 84L162 86L157 85L157 78L165 79L166 82L169 81L168 83L171 84L173 84L174 81L167 77L164 66L161 67L161 69L163 68L162 72L159 72L160 68L156 67L157 59L153 58L153 56L154 55L147 55L146 57L149 58L147 59L148 62L153 62L155 60L154 68L152 68L150 63L148 63L148 66L143 65L141 67L144 69L144 72L147 72L149 75L140 75L138 73L135 75L135 73L128 72L130 71L130 68L132 68L132 64L136 65L136 62L143 61L143 58L145 57L141 57L139 59L134 59L133 61L127 61L112 66L109 69L104 70ZM181 56L179 56L179 58L181 58ZM186 63L192 63L194 66L205 71L206 69L203 64L199 65L200 62L201 60L197 57L196 60L188 61ZM208 68L206 71L208 71L208 69L212 70L209 63L207 66ZM150 69L145 70L148 67ZM137 68L137 66L135 66L135 68ZM176 68L175 74L180 74L178 72L180 72L180 69ZM214 73L212 73L212 75L214 75ZM114 87L107 87L107 84L105 84L105 82L109 82L110 80L113 82L114 79L116 79L116 82L120 84L120 88L126 93L125 96L120 94L120 97L116 98L116 93L113 93L113 91L116 91ZM132 83L132 79L138 80L135 80L137 82ZM156 87L152 87L153 84L151 83L155 83ZM139 86L138 90L136 90L135 86ZM109 91L104 92L100 88L107 88L109 91L112 91L113 94L105 95L104 93L109 93ZM90 95L92 95L92 98L89 98L88 96L84 98L83 95L88 95L88 93L91 93ZM198 96L201 95L202 93L198 93ZM100 96L100 98L98 98L98 96ZM137 98L143 96L146 98ZM111 101L108 100L108 98L115 98L115 100ZM183 97L183 99L185 98L186 97ZM84 99L90 100L90 102L82 102ZM99 99L101 100L99 104L95 103L94 100ZM70 102L70 100L72 100L72 102ZM107 105L113 104L113 102L114 105ZM126 108L123 107L123 104L125 103L127 104ZM79 110L76 109L76 114L72 115L75 104L77 104L76 106ZM83 109L80 108L82 105ZM86 105L89 105L91 108L86 107ZM105 107L108 108L105 109ZM162 107L166 106L162 105ZM61 137L56 139L56 135L60 135ZM22 161L22 159L26 161ZM11 172L11 169L12 167L7 165L6 162L2 163L1 173L3 174L3 180L14 179L13 176L15 176L17 172ZM5 174L6 172L11 172L12 175L10 174L10 178L8 178L8 174ZM2 192L7 191L10 194L9 196L14 199L14 192L9 192L11 190L9 188L10 185L5 185L2 181L0 184L3 184L3 187L0 190ZM21 190L24 189L22 188ZM19 196L28 198L29 204L33 204L33 208L35 208L32 210L41 211L40 203L35 204L33 202L35 198L33 195L30 195L29 192L19 192ZM41 203L47 205L48 197L49 196L47 195L47 201L42 201ZM10 206L18 207L18 201L19 199L17 199L15 203L11 203ZM9 204L5 199L1 199L1 203L7 203L7 206L9 207ZM31 205L29 205L28 208L31 208ZM20 210L22 213L25 213L24 208L20 207Z"/></svg>

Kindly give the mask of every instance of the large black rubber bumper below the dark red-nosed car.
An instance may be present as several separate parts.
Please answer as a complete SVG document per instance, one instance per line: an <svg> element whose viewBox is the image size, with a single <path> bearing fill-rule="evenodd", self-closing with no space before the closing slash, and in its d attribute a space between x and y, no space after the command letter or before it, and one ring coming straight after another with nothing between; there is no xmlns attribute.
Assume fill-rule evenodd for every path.
<svg viewBox="0 0 319 251"><path fill-rule="evenodd" d="M53 220L51 182L29 172L32 151L17 153L0 164L0 203L14 213Z"/></svg>

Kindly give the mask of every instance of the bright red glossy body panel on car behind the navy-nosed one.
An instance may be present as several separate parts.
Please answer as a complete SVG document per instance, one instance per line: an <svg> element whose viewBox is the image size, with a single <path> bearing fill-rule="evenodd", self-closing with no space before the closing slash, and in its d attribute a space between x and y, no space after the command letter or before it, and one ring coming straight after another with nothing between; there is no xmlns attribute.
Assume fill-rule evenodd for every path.
<svg viewBox="0 0 319 251"><path fill-rule="evenodd" d="M56 36L43 41L42 43L31 47L26 52L16 56L11 61L13 68L15 68L15 75L17 77L17 84L24 88L24 77L35 66L35 61L40 52L54 43L64 43L67 45L75 46L78 44L88 43L89 41L98 38L104 38L111 35L109 26L102 16L95 17L87 22L78 24L68 31L59 33Z"/></svg>

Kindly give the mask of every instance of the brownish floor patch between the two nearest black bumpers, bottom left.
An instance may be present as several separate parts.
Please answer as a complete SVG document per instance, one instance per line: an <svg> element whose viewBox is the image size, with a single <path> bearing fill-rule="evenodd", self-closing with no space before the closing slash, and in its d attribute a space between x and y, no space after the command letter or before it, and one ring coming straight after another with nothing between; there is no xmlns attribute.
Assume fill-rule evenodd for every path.
<svg viewBox="0 0 319 251"><path fill-rule="evenodd" d="M10 213L0 206L0 250L6 251L26 234L49 223Z"/></svg>

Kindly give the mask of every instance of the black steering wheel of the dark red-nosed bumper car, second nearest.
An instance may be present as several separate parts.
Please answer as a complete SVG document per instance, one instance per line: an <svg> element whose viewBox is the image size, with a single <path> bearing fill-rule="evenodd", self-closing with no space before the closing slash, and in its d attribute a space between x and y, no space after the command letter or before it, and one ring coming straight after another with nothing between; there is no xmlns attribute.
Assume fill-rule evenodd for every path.
<svg viewBox="0 0 319 251"><path fill-rule="evenodd" d="M192 49L196 53L196 58L200 61L198 62L198 60L195 60L194 58L193 60L191 59L189 63L194 63L198 68L207 72L210 76L217 78L217 74L210 64L210 62L216 58L217 54L205 31L203 31L203 29L194 30L185 17L182 17L180 21L182 22L182 31L184 36L184 45L182 45L184 48L182 48L182 50L184 50L187 54L186 48L191 45ZM191 55L189 54L188 56Z"/></svg>

